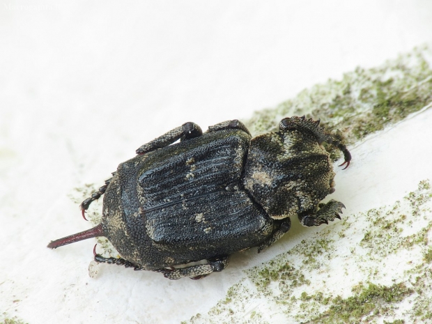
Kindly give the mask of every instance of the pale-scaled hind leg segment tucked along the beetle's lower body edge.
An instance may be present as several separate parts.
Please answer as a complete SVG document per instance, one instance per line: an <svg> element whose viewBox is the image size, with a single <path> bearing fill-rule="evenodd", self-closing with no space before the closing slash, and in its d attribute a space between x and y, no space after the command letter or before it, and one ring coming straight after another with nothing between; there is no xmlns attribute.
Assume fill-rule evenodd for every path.
<svg viewBox="0 0 432 324"><path fill-rule="evenodd" d="M220 272L228 265L228 256L222 256L219 258L208 259L207 264L191 265L185 268L170 269L158 269L156 272L162 272L165 278L171 280L177 280L183 277L191 277L191 279L201 279L210 275L212 272Z"/></svg>

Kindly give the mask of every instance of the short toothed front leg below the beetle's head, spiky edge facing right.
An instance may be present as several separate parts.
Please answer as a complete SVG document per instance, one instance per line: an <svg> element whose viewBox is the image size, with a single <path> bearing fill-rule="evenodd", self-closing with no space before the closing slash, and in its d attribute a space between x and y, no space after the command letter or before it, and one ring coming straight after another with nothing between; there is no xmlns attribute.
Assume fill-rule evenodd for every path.
<svg viewBox="0 0 432 324"><path fill-rule="evenodd" d="M328 224L328 222L334 221L335 218L341 219L339 213L342 213L342 208L345 208L344 204L330 200L328 203L319 205L320 209L316 213L302 213L298 215L298 219L303 226L319 226L321 224Z"/></svg>

